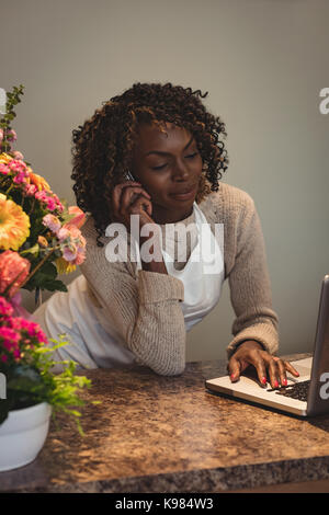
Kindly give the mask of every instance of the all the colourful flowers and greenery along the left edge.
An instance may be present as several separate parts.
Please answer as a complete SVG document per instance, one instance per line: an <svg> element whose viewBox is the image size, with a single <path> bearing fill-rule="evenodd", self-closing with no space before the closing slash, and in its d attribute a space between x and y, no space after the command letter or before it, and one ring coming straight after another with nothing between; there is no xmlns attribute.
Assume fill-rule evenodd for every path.
<svg viewBox="0 0 329 515"><path fill-rule="evenodd" d="M77 391L90 381L75 376L73 362L59 375L52 374L53 352L67 344L48 341L41 327L20 306L20 289L67 291L58 275L72 272L86 254L80 228L84 214L50 190L46 180L34 173L20 151L12 149L16 134L11 128L14 105L21 102L23 85L8 93L5 114L0 118L0 373L7 378L7 399L0 400L0 424L12 409L47 401L54 411L79 405ZM22 316L23 314L23 316Z"/></svg>

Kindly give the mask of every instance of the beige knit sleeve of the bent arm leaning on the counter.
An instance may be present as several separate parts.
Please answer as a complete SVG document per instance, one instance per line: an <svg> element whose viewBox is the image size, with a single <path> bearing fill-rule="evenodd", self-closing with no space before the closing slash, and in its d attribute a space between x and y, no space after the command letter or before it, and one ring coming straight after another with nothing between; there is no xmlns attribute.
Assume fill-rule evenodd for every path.
<svg viewBox="0 0 329 515"><path fill-rule="evenodd" d="M132 263L106 260L105 247L97 245L91 230L83 236L87 258L80 270L122 344L132 351L137 363L159 375L182 374L186 340L180 307L183 283L143 270L135 276Z"/></svg>

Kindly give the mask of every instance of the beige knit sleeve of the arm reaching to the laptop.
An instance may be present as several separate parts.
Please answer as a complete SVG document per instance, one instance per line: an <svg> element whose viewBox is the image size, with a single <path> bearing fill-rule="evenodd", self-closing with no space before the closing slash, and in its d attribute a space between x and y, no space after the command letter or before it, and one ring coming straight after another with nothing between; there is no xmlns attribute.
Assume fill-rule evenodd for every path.
<svg viewBox="0 0 329 515"><path fill-rule="evenodd" d="M234 231L235 253L228 274L230 299L236 313L234 339L227 347L228 358L245 340L256 340L270 354L275 354L279 347L279 320L272 308L261 222L252 198L245 192L242 201Z"/></svg>

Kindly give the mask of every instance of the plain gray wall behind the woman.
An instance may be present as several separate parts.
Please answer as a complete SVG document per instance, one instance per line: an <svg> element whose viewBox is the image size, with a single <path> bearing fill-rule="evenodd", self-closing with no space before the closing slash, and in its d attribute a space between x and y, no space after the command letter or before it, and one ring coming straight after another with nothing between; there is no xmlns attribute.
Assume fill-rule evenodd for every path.
<svg viewBox="0 0 329 515"><path fill-rule="evenodd" d="M329 273L329 2L0 0L0 87L25 85L18 149L71 203L71 131L102 101L136 81L209 92L227 125L225 182L262 220L281 353L309 351ZM224 357L232 320L226 285L189 334L188 359Z"/></svg>

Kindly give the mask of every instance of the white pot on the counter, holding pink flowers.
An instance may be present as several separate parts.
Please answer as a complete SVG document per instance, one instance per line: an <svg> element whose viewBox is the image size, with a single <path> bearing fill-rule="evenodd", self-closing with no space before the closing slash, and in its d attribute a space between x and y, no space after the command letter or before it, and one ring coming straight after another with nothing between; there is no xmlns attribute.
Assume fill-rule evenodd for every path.
<svg viewBox="0 0 329 515"><path fill-rule="evenodd" d="M33 461L49 428L52 407L47 402L13 410L0 425L0 471Z"/></svg>

